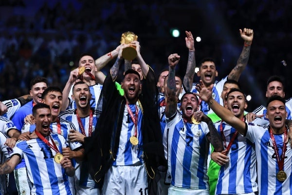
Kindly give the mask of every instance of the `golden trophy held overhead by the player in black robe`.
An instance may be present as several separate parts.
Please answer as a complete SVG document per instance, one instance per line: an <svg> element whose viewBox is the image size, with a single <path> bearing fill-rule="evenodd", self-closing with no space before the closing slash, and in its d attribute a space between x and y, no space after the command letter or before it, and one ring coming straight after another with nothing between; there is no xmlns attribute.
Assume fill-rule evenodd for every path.
<svg viewBox="0 0 292 195"><path fill-rule="evenodd" d="M128 32L122 34L121 44L122 43L128 44L131 41L134 41L137 39L138 39L137 35L135 35L133 32L128 31ZM132 60L132 59L136 58L137 57L136 47L129 46L129 47L124 48L122 51L122 57L124 59L127 59L127 60Z"/></svg>

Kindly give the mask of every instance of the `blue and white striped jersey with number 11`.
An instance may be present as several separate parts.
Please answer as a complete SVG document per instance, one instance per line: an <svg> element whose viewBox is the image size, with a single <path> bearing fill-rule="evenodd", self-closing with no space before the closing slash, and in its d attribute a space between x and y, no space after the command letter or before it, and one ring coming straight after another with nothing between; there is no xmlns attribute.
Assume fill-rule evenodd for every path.
<svg viewBox="0 0 292 195"><path fill-rule="evenodd" d="M51 134L59 151L67 147L66 140L58 134ZM52 144L52 140L49 139ZM56 152L40 138L19 140L13 148L13 155L24 158L27 174L33 184L32 195L71 195L68 176L61 164L54 160Z"/></svg>

